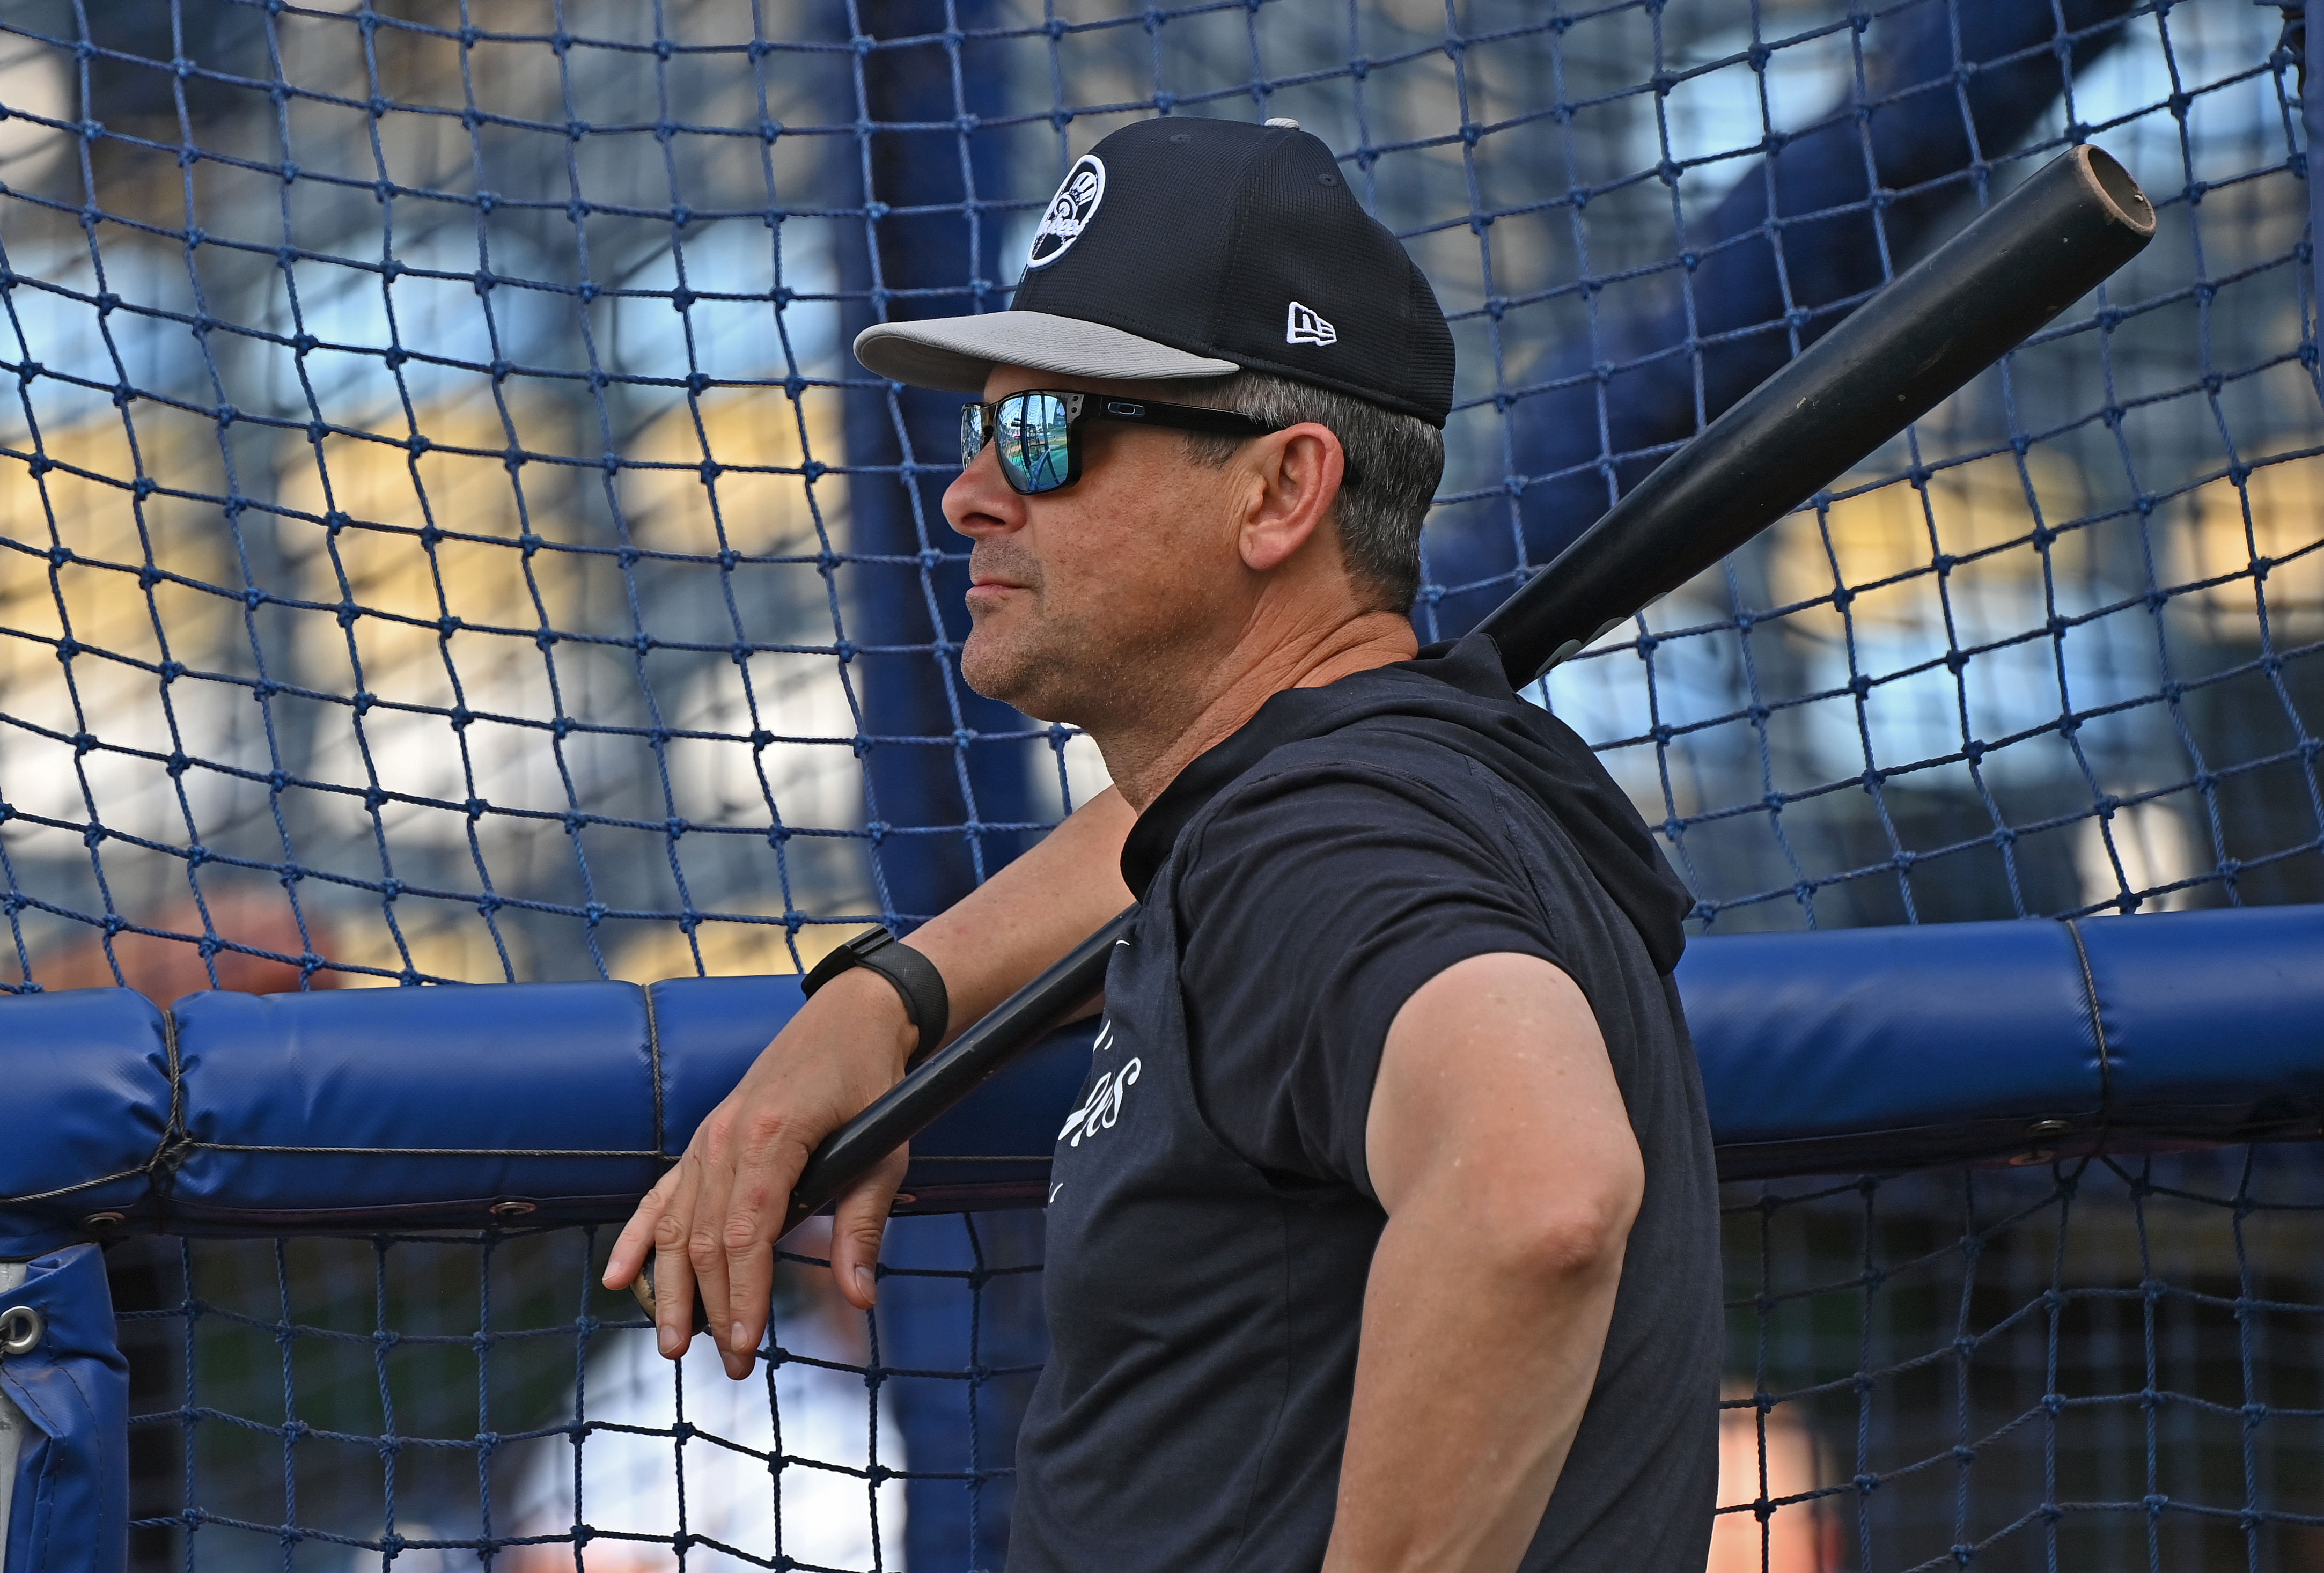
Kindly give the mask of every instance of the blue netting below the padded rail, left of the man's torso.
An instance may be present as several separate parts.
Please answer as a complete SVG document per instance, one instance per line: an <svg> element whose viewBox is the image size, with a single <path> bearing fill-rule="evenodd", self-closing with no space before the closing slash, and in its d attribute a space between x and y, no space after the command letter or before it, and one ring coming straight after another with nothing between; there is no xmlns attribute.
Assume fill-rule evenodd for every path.
<svg viewBox="0 0 2324 1573"><path fill-rule="evenodd" d="M597 1285L595 1231L125 1243L137 1559L997 1568L1043 1355L1039 1218L897 1229L920 1266L883 1269L878 1317L837 1297L818 1243L781 1257L751 1382L706 1341L672 1369ZM883 1336L913 1315L957 1329L944 1364ZM974 1424L932 1436L911 1424L930 1406Z"/></svg>

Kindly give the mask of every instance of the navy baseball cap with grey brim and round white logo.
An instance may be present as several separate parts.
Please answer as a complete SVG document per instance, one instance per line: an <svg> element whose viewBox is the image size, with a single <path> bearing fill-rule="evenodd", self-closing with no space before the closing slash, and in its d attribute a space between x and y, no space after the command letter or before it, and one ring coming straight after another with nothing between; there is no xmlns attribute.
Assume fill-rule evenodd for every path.
<svg viewBox="0 0 2324 1573"><path fill-rule="evenodd" d="M1443 425L1427 276L1297 121L1157 118L1074 160L1009 311L878 323L878 376L981 393L995 365L1150 381L1274 372Z"/></svg>

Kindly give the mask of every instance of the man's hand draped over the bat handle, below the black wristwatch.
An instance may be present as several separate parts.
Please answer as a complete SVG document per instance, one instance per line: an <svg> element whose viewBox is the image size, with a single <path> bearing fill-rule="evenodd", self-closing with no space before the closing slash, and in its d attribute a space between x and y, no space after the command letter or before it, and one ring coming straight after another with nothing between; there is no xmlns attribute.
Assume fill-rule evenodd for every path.
<svg viewBox="0 0 2324 1573"><path fill-rule="evenodd" d="M918 1041L885 978L844 971L799 1006L702 1120L679 1164L637 1204L604 1266L604 1287L625 1290L653 1252L653 1322L665 1357L679 1359L693 1341L700 1287L727 1376L751 1376L790 1187L825 1136L902 1080ZM897 1148L832 1211L832 1276L860 1310L871 1308L878 1243L902 1180Z"/></svg>

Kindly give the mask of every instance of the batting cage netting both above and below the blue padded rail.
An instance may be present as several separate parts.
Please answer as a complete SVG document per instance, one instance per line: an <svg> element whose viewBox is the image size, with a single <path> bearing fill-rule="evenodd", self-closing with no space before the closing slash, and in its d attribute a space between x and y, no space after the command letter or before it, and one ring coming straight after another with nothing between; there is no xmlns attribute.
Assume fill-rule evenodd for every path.
<svg viewBox="0 0 2324 1573"><path fill-rule="evenodd" d="M1106 776L960 681L960 400L848 344L1153 114L1297 118L1434 281L1425 637L2110 151L2136 263L1538 699L1703 948L2319 902L2301 9L9 0L0 987L788 974L974 888ZM2022 1148L1731 1185L1715 1566L2324 1561L2315 1148ZM137 1566L1006 1554L1034 1211L899 1220L874 1317L802 1234L741 1387L604 1231L109 1218Z"/></svg>

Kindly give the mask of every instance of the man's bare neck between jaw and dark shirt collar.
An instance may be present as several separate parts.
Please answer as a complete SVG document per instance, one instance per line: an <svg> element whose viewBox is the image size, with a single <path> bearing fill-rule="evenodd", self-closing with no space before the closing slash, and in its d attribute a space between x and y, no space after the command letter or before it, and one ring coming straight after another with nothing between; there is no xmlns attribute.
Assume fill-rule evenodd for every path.
<svg viewBox="0 0 2324 1573"><path fill-rule="evenodd" d="M1355 671L1411 660L1420 641L1413 623L1399 611L1367 611L1313 634L1246 639L1208 674L1206 697L1185 716L1160 718L1150 711L1122 727L1092 727L1097 750L1106 757L1113 785L1122 799L1146 811L1181 769L1208 748L1241 730L1274 695L1285 688L1322 688Z"/></svg>

